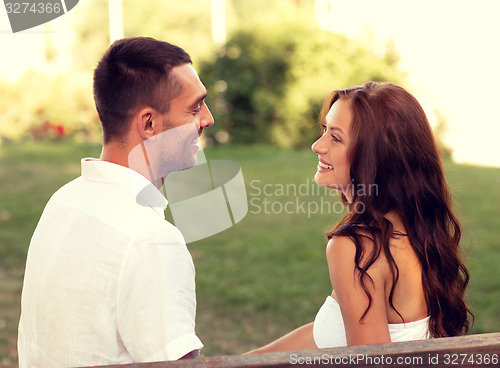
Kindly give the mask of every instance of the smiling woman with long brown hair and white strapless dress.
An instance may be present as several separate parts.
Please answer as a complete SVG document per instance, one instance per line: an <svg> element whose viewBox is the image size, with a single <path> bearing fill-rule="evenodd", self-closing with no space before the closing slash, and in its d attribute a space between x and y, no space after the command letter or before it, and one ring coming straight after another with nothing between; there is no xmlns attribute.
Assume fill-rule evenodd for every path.
<svg viewBox="0 0 500 368"><path fill-rule="evenodd" d="M333 292L313 323L252 352L466 333L460 225L420 104L401 87L367 83L334 91L320 121L314 179L348 209L327 233Z"/></svg>

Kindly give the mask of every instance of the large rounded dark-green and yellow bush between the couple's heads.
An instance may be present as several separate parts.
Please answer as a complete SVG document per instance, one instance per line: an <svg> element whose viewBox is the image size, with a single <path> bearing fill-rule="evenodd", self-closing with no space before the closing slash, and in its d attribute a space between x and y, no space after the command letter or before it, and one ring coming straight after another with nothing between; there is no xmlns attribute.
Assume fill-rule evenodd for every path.
<svg viewBox="0 0 500 368"><path fill-rule="evenodd" d="M237 31L225 50L200 66L216 120L235 143L309 146L323 99L365 81L401 82L394 50L282 21Z"/></svg>

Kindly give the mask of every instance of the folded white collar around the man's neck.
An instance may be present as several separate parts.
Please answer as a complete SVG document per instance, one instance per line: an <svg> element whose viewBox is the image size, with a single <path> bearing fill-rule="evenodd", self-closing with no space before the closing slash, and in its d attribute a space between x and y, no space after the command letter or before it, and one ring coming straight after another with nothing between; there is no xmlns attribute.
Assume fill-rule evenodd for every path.
<svg viewBox="0 0 500 368"><path fill-rule="evenodd" d="M95 158L82 159L82 177L101 183L129 186L137 204L151 207L163 217L168 201L144 176L128 167Z"/></svg>

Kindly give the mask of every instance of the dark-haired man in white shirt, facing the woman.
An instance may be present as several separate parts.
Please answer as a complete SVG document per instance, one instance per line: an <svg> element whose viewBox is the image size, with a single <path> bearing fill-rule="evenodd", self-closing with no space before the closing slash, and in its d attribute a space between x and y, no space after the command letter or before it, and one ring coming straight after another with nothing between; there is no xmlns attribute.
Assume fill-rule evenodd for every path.
<svg viewBox="0 0 500 368"><path fill-rule="evenodd" d="M102 154L82 160L33 234L20 367L176 360L203 347L192 258L157 189L195 164L197 138L213 125L191 63L177 46L138 37L113 43L96 67Z"/></svg>

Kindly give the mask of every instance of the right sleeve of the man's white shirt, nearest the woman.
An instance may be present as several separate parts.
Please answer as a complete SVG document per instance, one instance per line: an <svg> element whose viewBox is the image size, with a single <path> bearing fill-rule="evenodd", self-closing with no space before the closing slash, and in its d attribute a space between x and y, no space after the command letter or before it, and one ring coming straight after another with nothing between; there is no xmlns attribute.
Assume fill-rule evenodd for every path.
<svg viewBox="0 0 500 368"><path fill-rule="evenodd" d="M119 283L119 338L134 362L176 360L203 347L193 260L178 229L162 227L130 245Z"/></svg>

